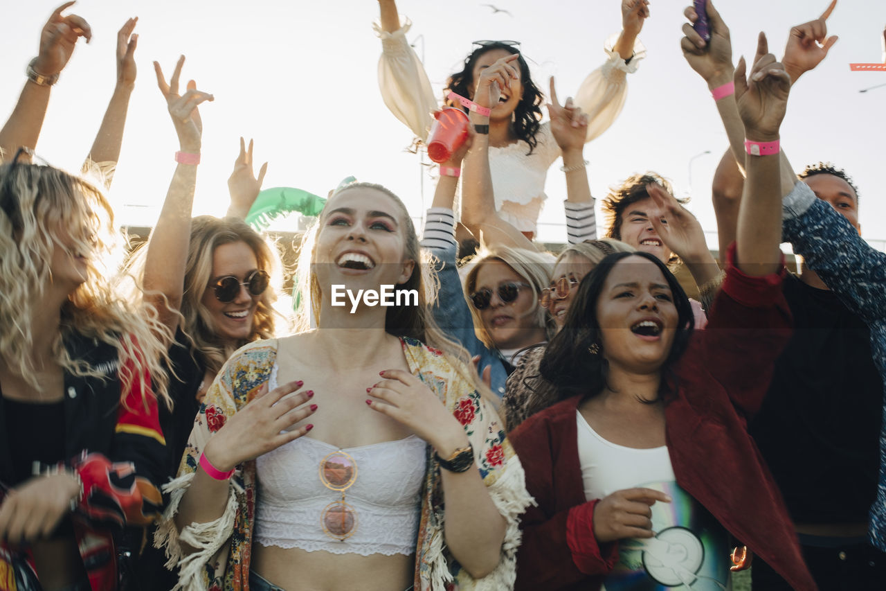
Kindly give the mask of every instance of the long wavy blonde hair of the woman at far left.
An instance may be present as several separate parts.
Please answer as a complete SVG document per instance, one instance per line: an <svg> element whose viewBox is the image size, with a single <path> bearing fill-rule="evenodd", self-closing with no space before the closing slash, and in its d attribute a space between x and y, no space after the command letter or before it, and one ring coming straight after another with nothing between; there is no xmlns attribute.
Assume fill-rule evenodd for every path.
<svg viewBox="0 0 886 591"><path fill-rule="evenodd" d="M4 363L41 390L32 359L31 319L55 313L36 306L52 283L52 253L65 248L86 256L87 277L62 304L59 331L51 344L53 358L71 374L106 378L101 368L72 358L65 341L82 335L113 345L120 366L120 398L125 399L137 382L143 397L153 392L171 404L162 368L167 351L161 343L169 331L155 311L128 303L117 291L121 277L117 255L123 244L105 195L62 170L17 161L0 166L0 326L4 327L0 354Z"/></svg>

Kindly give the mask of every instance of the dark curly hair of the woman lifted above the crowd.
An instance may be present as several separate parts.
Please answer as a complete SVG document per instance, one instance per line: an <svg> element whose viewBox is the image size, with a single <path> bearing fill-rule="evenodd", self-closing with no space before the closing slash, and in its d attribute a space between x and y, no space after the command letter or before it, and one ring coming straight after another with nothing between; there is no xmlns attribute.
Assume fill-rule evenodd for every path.
<svg viewBox="0 0 886 591"><path fill-rule="evenodd" d="M467 59L464 60L462 71L449 76L446 88L443 89L444 97L449 94L449 91L454 91L462 95L462 97L473 98L473 92L470 91L470 88L474 85L474 66L477 65L477 60L487 51L499 49L509 53L519 53L517 48L505 43L489 43L471 51ZM529 144L528 154L532 154L532 150L539 143L539 140L535 138L535 134L540 127L540 105L544 97L535 83L532 82L532 76L529 74L529 64L526 63L522 55L517 58L517 64L520 65L520 82L523 83L523 96L520 98L520 102L517 103L517 108L514 109L514 132L517 134L517 138ZM465 112L467 112L467 109L465 109Z"/></svg>

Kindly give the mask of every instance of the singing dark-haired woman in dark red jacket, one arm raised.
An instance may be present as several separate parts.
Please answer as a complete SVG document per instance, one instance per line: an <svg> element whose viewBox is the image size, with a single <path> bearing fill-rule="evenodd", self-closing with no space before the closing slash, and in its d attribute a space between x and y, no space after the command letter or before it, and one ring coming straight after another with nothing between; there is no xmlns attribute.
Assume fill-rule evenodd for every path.
<svg viewBox="0 0 886 591"><path fill-rule="evenodd" d="M747 417L787 343L777 141L789 76L771 54L735 93L748 180L727 277L704 331L664 264L607 256L581 283L541 374L562 402L511 434L538 502L517 589L727 588L728 534L796 589L814 589ZM759 148L764 148L760 150ZM781 189L780 189L781 187ZM668 196L649 185L664 215ZM571 398L570 398L571 397ZM722 586L722 587L721 587Z"/></svg>

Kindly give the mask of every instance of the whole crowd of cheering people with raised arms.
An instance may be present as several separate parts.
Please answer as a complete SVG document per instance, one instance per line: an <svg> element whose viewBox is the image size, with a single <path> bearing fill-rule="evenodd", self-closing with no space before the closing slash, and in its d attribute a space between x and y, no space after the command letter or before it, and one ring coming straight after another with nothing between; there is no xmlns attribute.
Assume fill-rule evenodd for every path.
<svg viewBox="0 0 886 591"><path fill-rule="evenodd" d="M728 589L749 568L757 591L882 588L886 255L860 237L851 177L797 174L780 144L836 0L781 60L761 33L737 64L710 0L685 11L683 55L729 139L719 260L658 172L615 185L598 227L584 148L625 104L648 0L621 3L573 97L549 82L545 121L518 43L475 43L440 100L378 0L385 105L419 146L440 108L467 137L421 234L385 185L346 183L293 268L245 222L252 142L228 216L192 217L214 97L183 83L184 57L168 79L154 63L177 166L128 248L105 192L136 19L82 170L35 154L91 36L71 4L0 130L0 589ZM561 158L552 253L532 239ZM332 295L385 286L416 300Z"/></svg>

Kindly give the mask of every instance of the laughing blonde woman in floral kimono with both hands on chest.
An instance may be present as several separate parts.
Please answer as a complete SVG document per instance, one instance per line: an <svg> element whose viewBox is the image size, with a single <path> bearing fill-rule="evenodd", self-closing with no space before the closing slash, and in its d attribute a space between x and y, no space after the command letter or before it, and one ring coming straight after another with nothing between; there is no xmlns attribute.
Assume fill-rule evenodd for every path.
<svg viewBox="0 0 886 591"><path fill-rule="evenodd" d="M229 359L170 486L162 532L181 584L511 587L523 469L431 319L407 210L384 187L347 185L317 228L301 268L318 328ZM418 305L332 303L332 286L387 285Z"/></svg>

